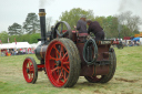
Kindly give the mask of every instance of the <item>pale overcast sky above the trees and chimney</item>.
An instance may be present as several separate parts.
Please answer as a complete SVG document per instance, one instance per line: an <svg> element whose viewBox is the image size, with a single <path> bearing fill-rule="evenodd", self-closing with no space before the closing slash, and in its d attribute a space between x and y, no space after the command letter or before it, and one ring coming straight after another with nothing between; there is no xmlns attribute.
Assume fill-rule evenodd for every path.
<svg viewBox="0 0 142 94"><path fill-rule="evenodd" d="M7 31L14 22L23 24L28 13L39 13L44 8L47 15L52 18L52 24L64 11L73 8L93 10L97 15L115 15L132 11L142 19L142 0L0 0L0 32ZM142 24L140 25L142 31Z"/></svg>

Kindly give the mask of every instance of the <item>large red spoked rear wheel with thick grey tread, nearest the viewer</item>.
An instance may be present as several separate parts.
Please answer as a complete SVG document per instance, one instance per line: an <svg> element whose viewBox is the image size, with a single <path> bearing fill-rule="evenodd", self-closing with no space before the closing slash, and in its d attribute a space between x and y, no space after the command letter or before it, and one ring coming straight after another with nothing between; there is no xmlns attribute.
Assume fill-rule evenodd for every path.
<svg viewBox="0 0 142 94"><path fill-rule="evenodd" d="M79 51L71 40L54 39L51 41L45 53L45 71L52 85L71 87L77 83L80 75L78 55Z"/></svg>

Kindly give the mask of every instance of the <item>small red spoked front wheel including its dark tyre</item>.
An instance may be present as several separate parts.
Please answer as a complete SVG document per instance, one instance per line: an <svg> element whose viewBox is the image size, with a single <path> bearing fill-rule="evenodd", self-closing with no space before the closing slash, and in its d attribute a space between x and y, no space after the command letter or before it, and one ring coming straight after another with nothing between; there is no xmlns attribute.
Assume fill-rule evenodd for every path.
<svg viewBox="0 0 142 94"><path fill-rule="evenodd" d="M38 79L38 67L33 58L27 58L22 66L24 80L28 83L36 83Z"/></svg>

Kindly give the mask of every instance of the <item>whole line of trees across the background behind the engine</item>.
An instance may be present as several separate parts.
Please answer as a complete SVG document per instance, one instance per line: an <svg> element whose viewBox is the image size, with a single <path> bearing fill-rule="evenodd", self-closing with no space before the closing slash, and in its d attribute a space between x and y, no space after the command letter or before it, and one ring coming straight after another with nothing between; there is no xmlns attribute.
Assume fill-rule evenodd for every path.
<svg viewBox="0 0 142 94"><path fill-rule="evenodd" d="M77 25L78 20L82 14L87 15L87 19L92 21L98 21L105 32L105 38L120 38L123 36L133 36L136 33L140 33L139 25L142 24L141 18L133 15L131 11L122 12L115 15L109 17L94 17L93 10L83 10L81 8L73 8L70 11L64 11L59 17L58 21L67 21L71 29ZM50 30L52 18L47 18L47 30ZM23 24L14 22L9 25L8 32L2 31L0 33L0 40L3 43L13 42L14 39L18 42L28 41L29 43L37 43L40 39L40 21L38 14L28 13Z"/></svg>

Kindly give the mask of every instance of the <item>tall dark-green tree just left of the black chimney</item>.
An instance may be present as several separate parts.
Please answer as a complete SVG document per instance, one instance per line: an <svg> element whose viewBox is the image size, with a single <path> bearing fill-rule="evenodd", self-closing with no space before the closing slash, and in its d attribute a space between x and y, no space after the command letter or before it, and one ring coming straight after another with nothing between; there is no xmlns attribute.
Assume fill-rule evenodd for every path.
<svg viewBox="0 0 142 94"><path fill-rule="evenodd" d="M40 21L36 13L28 13L26 22L23 22L23 29L28 33L36 33L40 30Z"/></svg>

